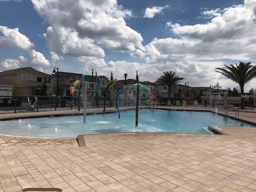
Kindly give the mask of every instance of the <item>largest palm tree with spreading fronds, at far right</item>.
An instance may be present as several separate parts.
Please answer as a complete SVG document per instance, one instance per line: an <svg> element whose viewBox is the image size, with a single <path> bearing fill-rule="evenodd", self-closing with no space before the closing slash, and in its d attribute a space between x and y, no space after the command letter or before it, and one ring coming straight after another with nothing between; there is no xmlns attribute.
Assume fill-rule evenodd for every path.
<svg viewBox="0 0 256 192"><path fill-rule="evenodd" d="M223 68L215 68L215 71L238 83L241 95L243 95L245 84L256 77L256 66L251 64L251 62L244 63L240 61L236 65L230 64L230 66L224 65ZM241 97L241 108L244 109L244 97Z"/></svg>

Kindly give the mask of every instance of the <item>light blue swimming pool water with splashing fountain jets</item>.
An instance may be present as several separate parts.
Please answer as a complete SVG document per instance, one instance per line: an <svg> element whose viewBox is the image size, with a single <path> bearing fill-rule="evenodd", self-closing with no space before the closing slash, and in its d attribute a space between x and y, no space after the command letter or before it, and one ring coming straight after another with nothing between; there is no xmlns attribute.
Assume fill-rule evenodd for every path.
<svg viewBox="0 0 256 192"><path fill-rule="evenodd" d="M118 113L28 118L0 122L0 133L19 136L76 137L80 134L121 132L174 132L209 134L203 127L250 126L211 112L140 109L138 126L135 110Z"/></svg>

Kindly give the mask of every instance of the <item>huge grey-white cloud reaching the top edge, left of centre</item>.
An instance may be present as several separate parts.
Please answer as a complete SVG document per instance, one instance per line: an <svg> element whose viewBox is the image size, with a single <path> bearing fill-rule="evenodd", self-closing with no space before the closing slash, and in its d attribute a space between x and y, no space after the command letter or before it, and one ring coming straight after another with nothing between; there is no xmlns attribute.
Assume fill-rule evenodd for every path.
<svg viewBox="0 0 256 192"><path fill-rule="evenodd" d="M34 9L50 24L47 46L68 56L105 56L103 48L132 52L142 47L142 36L126 26L132 12L116 0L32 0Z"/></svg>

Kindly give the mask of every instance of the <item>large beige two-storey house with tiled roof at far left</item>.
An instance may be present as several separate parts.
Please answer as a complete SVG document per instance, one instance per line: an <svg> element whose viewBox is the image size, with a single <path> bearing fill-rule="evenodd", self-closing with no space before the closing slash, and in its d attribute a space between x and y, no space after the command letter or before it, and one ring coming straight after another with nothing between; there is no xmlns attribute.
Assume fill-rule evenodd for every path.
<svg viewBox="0 0 256 192"><path fill-rule="evenodd" d="M40 95L43 84L46 85L46 94L53 92L54 76L37 71L32 67L7 70L0 74L12 83L13 96ZM0 86L2 85L0 84Z"/></svg>

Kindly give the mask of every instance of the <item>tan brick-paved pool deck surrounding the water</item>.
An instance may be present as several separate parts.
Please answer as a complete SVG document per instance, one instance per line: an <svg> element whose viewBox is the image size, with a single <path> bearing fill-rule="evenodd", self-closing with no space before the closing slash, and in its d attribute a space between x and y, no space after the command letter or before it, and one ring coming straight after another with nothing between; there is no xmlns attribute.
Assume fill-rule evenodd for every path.
<svg viewBox="0 0 256 192"><path fill-rule="evenodd" d="M195 106L160 107L215 112L215 108ZM112 111L115 108L106 108L106 112ZM0 114L0 120L57 114L77 114L77 110ZM225 110L218 108L218 114L225 114ZM240 110L238 119L256 123L256 113ZM78 146L76 138L0 135L0 192L20 192L24 188L60 188L64 192L255 192L256 128L219 128L226 135L83 135L84 147Z"/></svg>

